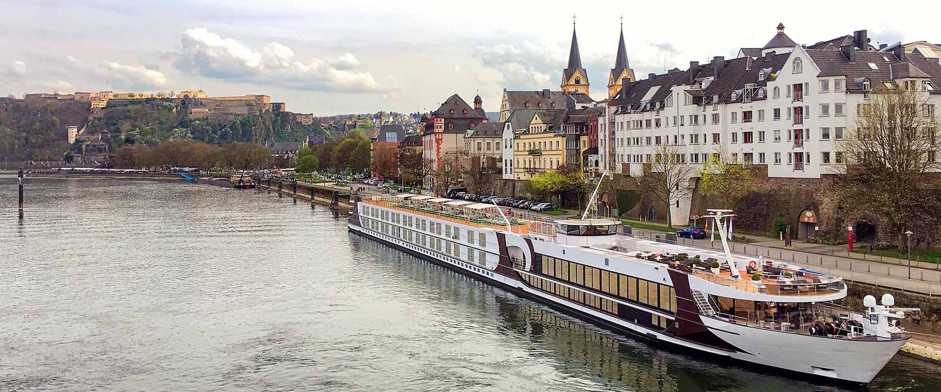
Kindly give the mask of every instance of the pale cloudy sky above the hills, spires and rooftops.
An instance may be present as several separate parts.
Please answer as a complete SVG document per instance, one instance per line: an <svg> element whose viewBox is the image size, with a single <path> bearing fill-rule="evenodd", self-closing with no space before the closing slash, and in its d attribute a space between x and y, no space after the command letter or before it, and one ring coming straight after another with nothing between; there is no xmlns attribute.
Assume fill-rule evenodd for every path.
<svg viewBox="0 0 941 392"><path fill-rule="evenodd" d="M579 3L593 98L606 95L620 15L639 77L763 46L779 22L806 44L858 29L873 43L941 41L925 19L876 11L885 2L735 3ZM566 66L571 12L533 4L0 0L0 94L203 89L268 94L290 111L330 115L431 110L479 91L498 111L502 88L558 89ZM918 13L936 15L938 4Z"/></svg>

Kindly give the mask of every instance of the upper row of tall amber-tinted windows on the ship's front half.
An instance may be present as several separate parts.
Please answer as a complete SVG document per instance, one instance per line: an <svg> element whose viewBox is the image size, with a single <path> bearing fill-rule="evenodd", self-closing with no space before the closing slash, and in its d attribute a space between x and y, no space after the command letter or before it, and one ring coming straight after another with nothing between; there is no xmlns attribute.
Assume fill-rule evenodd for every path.
<svg viewBox="0 0 941 392"><path fill-rule="evenodd" d="M536 271L623 300L659 307L671 313L677 311L676 290L657 282L548 256L542 257L542 265L537 265Z"/></svg>

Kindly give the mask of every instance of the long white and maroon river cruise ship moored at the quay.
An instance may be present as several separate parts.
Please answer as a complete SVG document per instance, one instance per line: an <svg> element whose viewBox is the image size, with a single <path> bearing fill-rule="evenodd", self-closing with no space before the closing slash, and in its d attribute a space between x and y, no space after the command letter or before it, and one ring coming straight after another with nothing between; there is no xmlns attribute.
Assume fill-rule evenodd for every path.
<svg viewBox="0 0 941 392"><path fill-rule="evenodd" d="M594 196L593 196L594 197ZM423 195L354 196L349 230L622 333L764 367L869 383L911 335L885 294L854 312L843 279L618 233L613 219L553 220Z"/></svg>

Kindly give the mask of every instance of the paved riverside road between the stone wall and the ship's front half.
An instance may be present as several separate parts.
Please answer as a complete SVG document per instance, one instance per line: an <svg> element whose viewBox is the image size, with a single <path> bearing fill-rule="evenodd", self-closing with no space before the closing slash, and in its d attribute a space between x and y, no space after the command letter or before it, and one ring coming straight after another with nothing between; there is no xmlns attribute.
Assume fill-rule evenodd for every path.
<svg viewBox="0 0 941 392"><path fill-rule="evenodd" d="M634 235L644 238L652 238L654 235L663 235L660 231L648 230L645 228L634 228ZM709 239L691 240L688 238L680 239L679 243L711 249L722 249L722 243L717 239L715 243L710 243ZM849 259L839 256L819 255L796 250L785 250L757 243L731 243L732 252L743 255L761 255L766 258L782 259L792 261L795 264L804 265L807 268L814 266L835 267L843 270L857 271L861 273L883 274L886 276L895 276L908 278L908 266L889 264L879 261L870 261L862 259ZM933 282L941 284L941 270L919 268L913 266L911 269L911 278L914 280Z"/></svg>

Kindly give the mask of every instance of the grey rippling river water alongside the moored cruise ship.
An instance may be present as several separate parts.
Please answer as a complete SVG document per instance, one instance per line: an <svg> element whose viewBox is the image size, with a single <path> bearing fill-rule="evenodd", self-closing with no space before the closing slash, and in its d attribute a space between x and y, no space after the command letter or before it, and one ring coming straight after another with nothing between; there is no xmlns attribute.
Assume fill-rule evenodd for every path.
<svg viewBox="0 0 941 392"><path fill-rule="evenodd" d="M0 390L843 390L606 331L346 231L182 182L0 175ZM847 358L852 361L853 358ZM869 390L941 390L897 355Z"/></svg>

